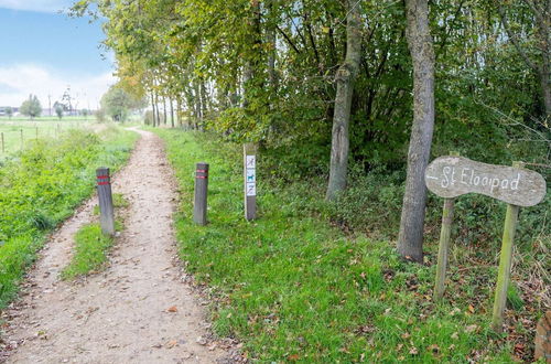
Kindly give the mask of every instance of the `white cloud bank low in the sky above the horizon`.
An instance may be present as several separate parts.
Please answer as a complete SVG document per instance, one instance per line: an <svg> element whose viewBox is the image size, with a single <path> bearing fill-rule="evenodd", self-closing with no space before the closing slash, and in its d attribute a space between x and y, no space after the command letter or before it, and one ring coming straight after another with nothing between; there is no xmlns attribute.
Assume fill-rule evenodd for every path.
<svg viewBox="0 0 551 364"><path fill-rule="evenodd" d="M0 65L0 106L19 107L33 94L42 107L47 108L48 95L53 105L71 87L76 107L95 109L101 95L116 81L111 73L66 75L35 64Z"/></svg>

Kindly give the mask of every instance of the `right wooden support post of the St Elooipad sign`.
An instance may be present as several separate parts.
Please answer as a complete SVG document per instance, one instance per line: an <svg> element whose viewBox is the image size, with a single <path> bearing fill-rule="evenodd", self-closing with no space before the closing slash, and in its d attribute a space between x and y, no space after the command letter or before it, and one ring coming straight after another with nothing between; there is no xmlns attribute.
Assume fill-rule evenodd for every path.
<svg viewBox="0 0 551 364"><path fill-rule="evenodd" d="M514 168L522 168L521 162L514 162ZM507 289L511 275L512 243L517 229L519 206L508 204L505 215L504 236L501 238L501 253L499 255L499 268L497 275L496 295L494 298L494 312L491 317L491 329L496 332L503 331L504 311L507 303Z"/></svg>

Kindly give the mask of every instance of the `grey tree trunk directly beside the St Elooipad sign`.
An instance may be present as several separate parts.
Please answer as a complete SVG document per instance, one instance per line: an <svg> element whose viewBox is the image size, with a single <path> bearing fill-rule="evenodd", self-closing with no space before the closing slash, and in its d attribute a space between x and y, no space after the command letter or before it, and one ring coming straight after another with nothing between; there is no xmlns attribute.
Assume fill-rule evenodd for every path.
<svg viewBox="0 0 551 364"><path fill-rule="evenodd" d="M402 257L423 261L426 203L424 171L434 129L434 49L429 26L428 0L407 0L406 35L413 61L413 125L408 152L398 250Z"/></svg>

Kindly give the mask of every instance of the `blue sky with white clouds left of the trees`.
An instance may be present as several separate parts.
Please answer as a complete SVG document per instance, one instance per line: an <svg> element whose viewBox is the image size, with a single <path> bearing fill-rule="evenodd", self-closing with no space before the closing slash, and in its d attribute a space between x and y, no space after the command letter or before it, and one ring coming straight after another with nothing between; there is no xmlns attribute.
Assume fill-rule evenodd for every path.
<svg viewBox="0 0 551 364"><path fill-rule="evenodd" d="M43 108L69 87L77 108L96 109L116 79L99 21L72 19L71 0L0 0L0 106L36 95Z"/></svg>

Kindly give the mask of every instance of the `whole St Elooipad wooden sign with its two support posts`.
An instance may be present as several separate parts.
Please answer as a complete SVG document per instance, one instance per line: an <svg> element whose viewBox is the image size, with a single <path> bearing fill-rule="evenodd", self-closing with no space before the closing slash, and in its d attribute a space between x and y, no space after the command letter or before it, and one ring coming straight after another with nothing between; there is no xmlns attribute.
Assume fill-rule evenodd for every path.
<svg viewBox="0 0 551 364"><path fill-rule="evenodd" d="M501 253L491 321L491 328L500 332L503 330L504 310L507 300L507 288L509 286L512 244L517 228L519 206L529 207L539 204L545 196L545 180L541 174L523 169L521 162L514 162L512 167L486 164L458 157L456 153L449 157L440 157L432 161L426 168L424 179L426 188L431 192L445 199L440 234L434 300L440 300L444 295L447 250L455 197L467 193L478 193L508 204L501 238Z"/></svg>

